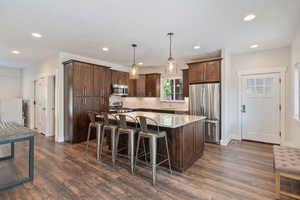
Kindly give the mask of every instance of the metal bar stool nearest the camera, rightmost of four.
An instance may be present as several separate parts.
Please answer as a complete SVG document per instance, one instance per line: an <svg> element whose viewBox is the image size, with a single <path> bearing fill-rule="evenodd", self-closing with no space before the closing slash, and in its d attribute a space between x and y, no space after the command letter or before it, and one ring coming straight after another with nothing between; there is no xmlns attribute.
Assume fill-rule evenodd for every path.
<svg viewBox="0 0 300 200"><path fill-rule="evenodd" d="M141 138L149 138L149 147L150 147L150 167L152 167L152 183L153 185L156 184L156 168L163 164L164 162L168 161L169 163L169 170L170 173L172 174L172 169L171 169L171 160L170 160L170 153L169 153L169 147L168 147L168 138L167 138L167 133L166 131L160 131L159 130L159 125L157 121L154 119L145 117L145 116L137 116L137 121L140 124L141 131L139 132L138 136L138 141L137 141L137 149L136 149L136 157L135 157L135 167L136 167L136 162L143 162L139 158L141 155L139 155L139 147L140 147L140 140ZM156 130L151 130L148 129L147 121L152 122L151 125L154 125L156 127ZM166 151L167 151L167 159L164 159L163 161L157 163L157 141L158 139L163 138L165 140L166 144ZM145 147L144 147L145 148ZM146 151L146 150L144 150ZM159 154L160 155L160 154ZM143 156L143 155L142 155ZM162 156L162 155L160 155Z"/></svg>

